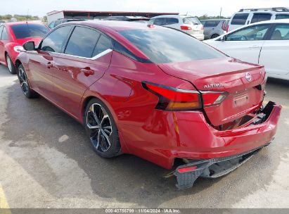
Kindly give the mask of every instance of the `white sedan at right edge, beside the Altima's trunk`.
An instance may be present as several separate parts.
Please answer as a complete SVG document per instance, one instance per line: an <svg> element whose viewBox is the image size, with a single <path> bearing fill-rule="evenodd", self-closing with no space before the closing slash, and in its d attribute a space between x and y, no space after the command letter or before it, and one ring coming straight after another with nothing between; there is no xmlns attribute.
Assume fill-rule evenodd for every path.
<svg viewBox="0 0 289 214"><path fill-rule="evenodd" d="M289 80L289 20L269 20L206 40L224 53L265 66L266 75Z"/></svg>

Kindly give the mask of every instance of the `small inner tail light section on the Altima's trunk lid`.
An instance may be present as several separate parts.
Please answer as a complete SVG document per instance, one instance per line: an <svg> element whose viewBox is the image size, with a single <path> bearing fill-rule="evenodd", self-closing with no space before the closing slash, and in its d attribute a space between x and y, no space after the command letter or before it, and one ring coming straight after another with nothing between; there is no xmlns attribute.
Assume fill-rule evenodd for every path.
<svg viewBox="0 0 289 214"><path fill-rule="evenodd" d="M218 105L227 96L226 92L201 92L201 94L204 107Z"/></svg>

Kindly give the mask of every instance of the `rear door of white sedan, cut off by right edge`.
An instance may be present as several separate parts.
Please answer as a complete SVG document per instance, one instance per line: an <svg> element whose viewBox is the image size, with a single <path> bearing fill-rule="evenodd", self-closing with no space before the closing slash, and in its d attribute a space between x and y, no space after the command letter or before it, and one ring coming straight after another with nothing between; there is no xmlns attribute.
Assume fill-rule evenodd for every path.
<svg viewBox="0 0 289 214"><path fill-rule="evenodd" d="M289 24L276 24L271 32L262 46L259 63L265 65L268 76L289 75Z"/></svg>

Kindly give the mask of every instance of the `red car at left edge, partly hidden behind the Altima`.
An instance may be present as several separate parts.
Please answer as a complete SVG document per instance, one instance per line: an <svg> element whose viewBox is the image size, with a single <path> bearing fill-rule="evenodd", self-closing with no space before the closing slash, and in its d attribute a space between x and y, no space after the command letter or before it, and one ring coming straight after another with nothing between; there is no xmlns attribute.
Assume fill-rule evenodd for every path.
<svg viewBox="0 0 289 214"><path fill-rule="evenodd" d="M8 66L11 74L16 73L15 60L22 45L27 41L38 43L49 28L35 22L3 23L0 25L0 63Z"/></svg>

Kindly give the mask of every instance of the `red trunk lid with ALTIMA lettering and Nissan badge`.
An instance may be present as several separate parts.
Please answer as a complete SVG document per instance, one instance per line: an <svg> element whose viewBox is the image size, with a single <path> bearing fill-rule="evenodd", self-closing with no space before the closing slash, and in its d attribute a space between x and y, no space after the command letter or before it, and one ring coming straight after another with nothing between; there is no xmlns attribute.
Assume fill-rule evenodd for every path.
<svg viewBox="0 0 289 214"><path fill-rule="evenodd" d="M214 58L159 64L168 75L191 82L200 92L227 92L219 105L205 107L213 126L242 118L262 105L265 72L262 65L234 58Z"/></svg>

